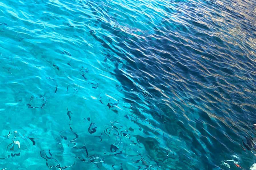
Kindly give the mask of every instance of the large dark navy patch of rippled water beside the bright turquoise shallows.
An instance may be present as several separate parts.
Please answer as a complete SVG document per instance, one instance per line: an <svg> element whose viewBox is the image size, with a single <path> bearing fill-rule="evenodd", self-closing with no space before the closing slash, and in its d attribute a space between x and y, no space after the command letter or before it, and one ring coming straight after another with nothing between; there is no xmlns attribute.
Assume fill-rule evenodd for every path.
<svg viewBox="0 0 256 170"><path fill-rule="evenodd" d="M97 7L94 6L94 8ZM97 15L96 11L95 15ZM243 169L238 164L238 160L235 161L238 157L236 154L242 154L243 150L245 150L241 145L242 143L248 150L251 150L251 147L255 148L254 139L250 136L255 136L255 134L252 134L253 131L255 133L255 130L248 128L247 130L250 131L250 134L248 132L245 133L245 131L239 131L239 133L245 135L245 139L248 141L245 144L244 141L242 142L242 138L238 137L238 134L235 132L235 129L241 126L241 124L234 123L238 119L233 118L233 120L229 120L224 113L226 109L228 112L232 109L233 114L240 115L239 121L244 122L247 127L250 127L256 120L255 118L248 119L248 117L241 116L242 113L239 113L239 110L237 110L239 108L238 105L232 106L225 101L220 101L224 98L229 98L227 101L232 101L232 96L236 93L236 89L230 89L225 86L218 87L224 81L226 81L225 84L241 81L237 76L230 77L227 75L234 75L230 69L235 69L235 74L239 74L240 71L237 68L230 66L231 68L222 69L222 66L219 64L224 61L225 57L239 58L240 54L235 51L238 46L224 42L221 38L203 34L198 29L193 28L192 25L184 26L180 23L168 23L167 20L170 20L170 18L166 16L165 21L159 24L161 27L155 27L154 34L144 36L143 41L124 32L116 31L115 28L101 20L101 27L111 32L112 36L116 39L115 42L119 42L115 45L110 42L112 47L105 41L106 38L99 38L97 34L91 32L96 40L113 53L112 55L116 54L127 62L125 65L122 65L122 68L119 68L119 62L115 61L117 64L113 73L124 88L124 100L131 104L131 110L137 118L148 121L149 124L162 130L161 133L166 142L166 149L156 139L141 138L140 136L137 139L141 138L139 140L145 146L150 158L162 168L167 168L168 164L173 165L172 159L177 159L178 157L179 161L175 161L175 166L173 167L184 167L185 163L193 169L214 169L218 168L219 162L222 162L224 166L230 166L229 164L231 164L233 167ZM210 31L209 28L199 23L193 22L193 25L201 30ZM179 38L180 36L171 32L177 32L197 42L186 42L184 39ZM189 32L189 34L186 32ZM184 33L187 35L184 35ZM203 39L198 38L200 34ZM205 44L213 49L203 48ZM221 45L222 48L217 49L214 47L215 45ZM115 46L129 51L129 53L123 55L119 53L120 50ZM226 53L216 53L218 51ZM135 62L128 59L127 56ZM205 59L200 56L204 56ZM214 60L217 63L211 64ZM208 68L205 68L205 66ZM124 74L121 69L126 70L127 74ZM216 74L218 74L217 77L214 76ZM132 75L132 77L129 75ZM228 78L224 79L227 76ZM201 86L201 83L196 82L196 79L206 85ZM245 83L246 87L255 91L253 84L242 82ZM218 92L207 86L215 86ZM144 89L142 90L141 87L144 87ZM228 89L231 91L227 91ZM198 96L196 93L198 93ZM255 95L252 97L255 98ZM249 99L246 102L251 103L252 101ZM113 106L108 104L108 107L110 109ZM148 120L147 114L150 114L153 119ZM182 116L184 114L186 117ZM129 117L126 118L129 119ZM134 123L136 122L134 121ZM146 125L138 124L138 126L144 130L147 129L144 131L146 134L150 131ZM195 132L195 129L197 132ZM226 132L220 129L225 129ZM244 127L241 127L241 129L244 129ZM179 140L184 142L185 146L178 146L176 148L171 146L172 142L169 142L171 139L165 133L177 136ZM221 137L223 135L225 137ZM247 137L248 135L250 136L249 138ZM231 139L232 137L234 138ZM234 142L234 140L238 142ZM181 145L178 140L174 141L174 143ZM190 154L186 153L187 150L185 148L192 152ZM171 150L175 151L177 155L171 154ZM163 156L164 153L166 153L165 158ZM230 154L231 161L225 160L228 158L223 153ZM170 157L172 158L168 159ZM199 165L196 163L197 161L201 162L199 163L200 167L195 166Z"/></svg>

